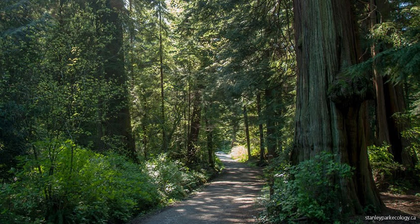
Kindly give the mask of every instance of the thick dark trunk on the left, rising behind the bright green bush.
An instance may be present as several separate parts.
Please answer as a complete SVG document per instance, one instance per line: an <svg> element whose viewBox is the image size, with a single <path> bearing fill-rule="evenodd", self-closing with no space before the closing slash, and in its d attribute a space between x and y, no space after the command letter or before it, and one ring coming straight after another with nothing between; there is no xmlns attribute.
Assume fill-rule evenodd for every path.
<svg viewBox="0 0 420 224"><path fill-rule="evenodd" d="M137 155L128 110L127 75L124 72L123 30L119 18L119 14L124 10L124 2L123 0L107 0L106 7L111 10L105 15L104 23L114 25L115 29L111 33L113 38L103 51L103 57L107 59L104 65L105 80L109 80L113 85L116 85L117 93L113 94L112 98L108 100L110 110L106 113L107 122L102 134L120 137L122 143L127 147L128 156L136 161Z"/></svg>

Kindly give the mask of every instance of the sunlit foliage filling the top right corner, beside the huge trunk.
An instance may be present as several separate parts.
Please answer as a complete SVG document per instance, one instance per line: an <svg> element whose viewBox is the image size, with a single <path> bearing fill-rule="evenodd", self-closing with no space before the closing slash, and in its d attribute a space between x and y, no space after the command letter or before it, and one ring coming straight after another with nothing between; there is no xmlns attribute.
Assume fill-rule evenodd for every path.
<svg viewBox="0 0 420 224"><path fill-rule="evenodd" d="M364 73L375 68L393 83L419 83L420 7L417 0L392 1L391 18L375 24L367 42L381 52L362 63L348 67L350 73Z"/></svg>

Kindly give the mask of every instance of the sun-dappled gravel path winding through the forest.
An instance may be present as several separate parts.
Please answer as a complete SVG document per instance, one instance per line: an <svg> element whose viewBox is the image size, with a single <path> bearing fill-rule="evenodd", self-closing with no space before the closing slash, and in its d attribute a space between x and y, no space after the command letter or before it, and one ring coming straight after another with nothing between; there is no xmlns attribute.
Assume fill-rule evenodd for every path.
<svg viewBox="0 0 420 224"><path fill-rule="evenodd" d="M217 153L225 170L194 197L129 224L254 224L259 209L254 201L263 187L260 168Z"/></svg>

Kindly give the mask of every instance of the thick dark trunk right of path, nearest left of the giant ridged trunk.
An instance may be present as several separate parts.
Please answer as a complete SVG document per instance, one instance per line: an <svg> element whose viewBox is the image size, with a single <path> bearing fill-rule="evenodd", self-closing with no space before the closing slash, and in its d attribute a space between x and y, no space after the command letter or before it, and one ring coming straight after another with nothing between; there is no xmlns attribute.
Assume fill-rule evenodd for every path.
<svg viewBox="0 0 420 224"><path fill-rule="evenodd" d="M267 153L277 157L276 122L274 120L273 89L265 90L265 120L267 124Z"/></svg>

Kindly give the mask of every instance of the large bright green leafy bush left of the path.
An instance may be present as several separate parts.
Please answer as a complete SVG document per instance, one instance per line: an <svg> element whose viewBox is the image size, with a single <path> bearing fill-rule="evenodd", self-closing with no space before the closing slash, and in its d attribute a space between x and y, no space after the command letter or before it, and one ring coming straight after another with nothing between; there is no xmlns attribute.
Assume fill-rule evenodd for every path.
<svg viewBox="0 0 420 224"><path fill-rule="evenodd" d="M35 145L34 155L20 158L15 181L1 185L0 223L105 224L159 202L143 168L120 155L94 153L70 140Z"/></svg>

